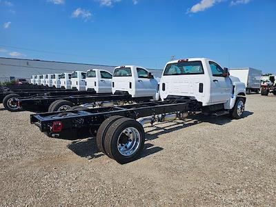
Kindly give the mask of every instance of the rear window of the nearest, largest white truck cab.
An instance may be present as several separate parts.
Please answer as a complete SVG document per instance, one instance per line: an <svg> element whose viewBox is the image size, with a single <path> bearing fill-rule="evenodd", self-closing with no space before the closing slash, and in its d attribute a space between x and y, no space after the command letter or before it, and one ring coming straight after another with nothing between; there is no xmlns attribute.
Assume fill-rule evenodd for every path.
<svg viewBox="0 0 276 207"><path fill-rule="evenodd" d="M170 63L166 66L164 75L195 75L204 74L201 61L183 61Z"/></svg>

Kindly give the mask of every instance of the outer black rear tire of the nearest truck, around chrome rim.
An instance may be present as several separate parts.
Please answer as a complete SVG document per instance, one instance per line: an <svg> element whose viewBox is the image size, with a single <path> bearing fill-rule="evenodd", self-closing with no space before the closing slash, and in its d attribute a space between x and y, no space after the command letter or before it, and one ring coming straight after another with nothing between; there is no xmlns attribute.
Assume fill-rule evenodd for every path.
<svg viewBox="0 0 276 207"><path fill-rule="evenodd" d="M135 134L133 134L133 132L131 133L132 140L134 139L133 136L135 137L139 136L139 139L138 139L139 141L135 142L135 144L133 145L130 144L130 146L132 146L130 150L133 147L135 148L135 150L131 154L123 155L119 151L119 146L121 146L121 149L124 150L124 148L126 148L127 145L129 144L128 141L131 140L130 137L128 137L126 134L122 135L122 133L129 128L135 129ZM129 135L130 135L130 132L129 132ZM145 142L145 132L144 132L143 126L141 126L141 124L139 124L139 122L134 119L122 118L115 121L110 126L110 128L108 128L108 131L106 132L106 136L104 139L104 148L106 150L106 154L108 155L108 157L115 159L119 164L126 164L130 161L137 159L137 157L139 157L141 151L144 148L144 142Z"/></svg>

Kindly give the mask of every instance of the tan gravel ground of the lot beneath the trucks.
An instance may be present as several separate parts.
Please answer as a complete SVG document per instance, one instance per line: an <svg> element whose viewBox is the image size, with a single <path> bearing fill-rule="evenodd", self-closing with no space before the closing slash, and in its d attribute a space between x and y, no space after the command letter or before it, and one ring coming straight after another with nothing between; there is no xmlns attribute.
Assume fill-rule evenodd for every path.
<svg viewBox="0 0 276 207"><path fill-rule="evenodd" d="M52 139L30 112L0 106L0 206L275 206L276 96L248 95L243 119L146 127L140 159L120 165L95 139Z"/></svg>

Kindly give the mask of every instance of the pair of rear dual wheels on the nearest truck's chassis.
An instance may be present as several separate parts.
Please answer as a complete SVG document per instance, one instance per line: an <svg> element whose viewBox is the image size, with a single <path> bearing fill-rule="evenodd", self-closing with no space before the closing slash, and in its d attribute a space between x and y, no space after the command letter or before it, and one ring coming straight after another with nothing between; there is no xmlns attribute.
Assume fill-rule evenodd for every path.
<svg viewBox="0 0 276 207"><path fill-rule="evenodd" d="M139 157L144 148L145 132L138 121L114 116L103 121L96 140L99 150L119 164L126 164Z"/></svg>

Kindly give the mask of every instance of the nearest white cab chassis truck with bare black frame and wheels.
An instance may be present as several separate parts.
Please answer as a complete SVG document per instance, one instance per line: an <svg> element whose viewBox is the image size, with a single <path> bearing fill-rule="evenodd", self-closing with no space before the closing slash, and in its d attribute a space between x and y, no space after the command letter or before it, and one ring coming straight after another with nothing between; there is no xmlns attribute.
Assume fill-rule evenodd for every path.
<svg viewBox="0 0 276 207"><path fill-rule="evenodd" d="M137 74L137 68L140 67L116 68L119 70L115 70L114 77L124 79L129 87L130 83L135 83L127 77ZM143 81L145 79L150 79L150 75L148 78L145 75ZM113 88L116 83L117 80ZM200 112L213 116L230 115L233 119L241 118L244 113L245 84L237 77L229 77L228 68L221 68L210 59L168 62L159 88L161 101L41 113L30 115L30 121L49 137L69 139L70 136L83 136L85 131L86 137L90 137L89 132L97 132L99 150L125 164L137 159L144 148L144 124L185 119Z"/></svg>

